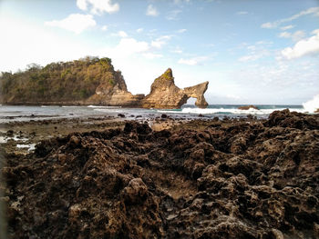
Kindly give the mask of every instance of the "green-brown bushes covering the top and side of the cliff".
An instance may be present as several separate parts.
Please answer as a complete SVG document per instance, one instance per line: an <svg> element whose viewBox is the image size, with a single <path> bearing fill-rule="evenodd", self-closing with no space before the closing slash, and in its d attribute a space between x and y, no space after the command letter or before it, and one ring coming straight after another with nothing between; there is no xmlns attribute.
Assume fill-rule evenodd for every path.
<svg viewBox="0 0 319 239"><path fill-rule="evenodd" d="M116 75L107 57L87 56L45 67L32 64L25 71L2 73L0 100L9 104L80 102L94 95L100 84L115 85Z"/></svg>

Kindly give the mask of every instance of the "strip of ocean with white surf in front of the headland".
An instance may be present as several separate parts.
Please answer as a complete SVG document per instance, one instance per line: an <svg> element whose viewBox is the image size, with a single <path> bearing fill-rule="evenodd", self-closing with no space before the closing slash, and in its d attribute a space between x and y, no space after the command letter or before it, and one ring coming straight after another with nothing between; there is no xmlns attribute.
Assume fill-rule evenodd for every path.
<svg viewBox="0 0 319 239"><path fill-rule="evenodd" d="M0 105L0 123L29 120L47 120L54 118L81 118L125 115L128 119L136 117L156 117L162 114L171 117L206 118L228 116L230 118L246 117L254 115L257 118L267 118L275 110L289 109L300 113L308 111L303 105L256 105L259 110L239 110L242 105L208 105L206 109L197 108L195 105L183 105L180 109L160 110L141 108L121 108L113 106L24 106L24 105Z"/></svg>

